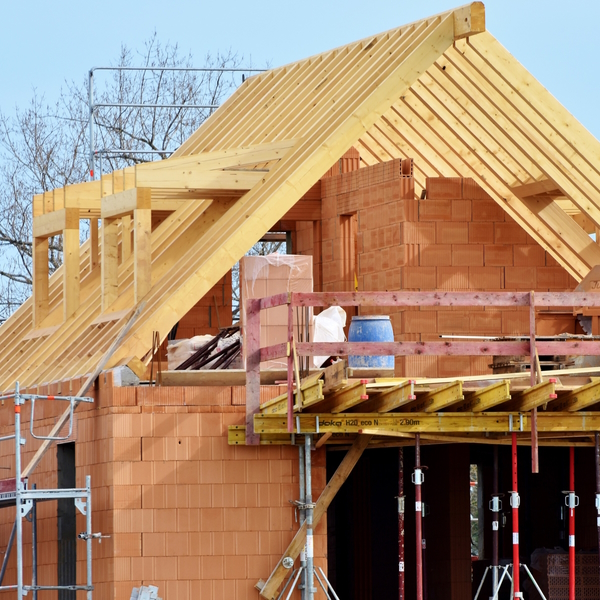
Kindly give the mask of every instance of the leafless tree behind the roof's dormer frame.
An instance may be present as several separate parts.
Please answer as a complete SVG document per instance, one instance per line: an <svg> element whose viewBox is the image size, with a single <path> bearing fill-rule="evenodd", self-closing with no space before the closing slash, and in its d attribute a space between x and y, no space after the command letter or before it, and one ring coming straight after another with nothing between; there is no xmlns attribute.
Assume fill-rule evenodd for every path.
<svg viewBox="0 0 600 600"><path fill-rule="evenodd" d="M121 48L115 67L145 71L98 71L95 102L122 105L219 105L241 83L241 73L224 72L242 58L229 51L207 54L202 67L212 71L157 71L152 67L193 67L191 54L175 44L162 45L156 33L142 52ZM167 157L214 109L98 107L96 149L102 170ZM48 103L34 95L26 108L0 113L0 321L31 293L31 200L34 194L89 178L87 78L70 82ZM155 153L143 154L143 151ZM97 169L98 170L98 169ZM82 236L85 237L85 228ZM60 236L51 240L49 267L62 262Z"/></svg>

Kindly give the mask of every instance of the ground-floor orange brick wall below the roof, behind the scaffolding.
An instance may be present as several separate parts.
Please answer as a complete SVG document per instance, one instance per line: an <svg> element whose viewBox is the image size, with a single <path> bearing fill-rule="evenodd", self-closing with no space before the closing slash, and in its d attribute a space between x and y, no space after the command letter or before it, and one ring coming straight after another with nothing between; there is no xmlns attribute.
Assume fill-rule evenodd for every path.
<svg viewBox="0 0 600 600"><path fill-rule="evenodd" d="M80 381L43 386L64 394ZM281 393L263 386L263 400ZM32 390L33 391L33 390ZM254 584L267 579L298 524L288 500L298 498L298 451L290 446L229 446L227 428L245 422L244 387L113 387L100 377L94 405L77 414L77 485L91 475L93 530L111 537L94 542L94 596L129 598L133 586L158 585L163 598L258 600ZM0 435L14 431L14 411L0 411ZM36 428L47 431L64 405L38 403ZM29 425L28 409L23 410ZM31 437L27 464L39 446ZM13 442L2 442L3 477L14 477ZM314 453L313 495L325 487L325 449ZM34 472L32 483L56 487L56 450ZM0 511L8 540L14 510ZM78 515L77 531L84 531ZM39 583L56 584L56 503L38 506ZM25 540L30 525L24 524ZM326 519L316 530L316 563L326 569ZM78 542L79 581L85 573ZM25 545L25 580L31 545ZM16 582L13 551L5 584ZM6 597L13 597L8 592ZM56 594L46 593L48 600ZM298 596L299 597L299 596ZM295 597L297 600L297 598Z"/></svg>

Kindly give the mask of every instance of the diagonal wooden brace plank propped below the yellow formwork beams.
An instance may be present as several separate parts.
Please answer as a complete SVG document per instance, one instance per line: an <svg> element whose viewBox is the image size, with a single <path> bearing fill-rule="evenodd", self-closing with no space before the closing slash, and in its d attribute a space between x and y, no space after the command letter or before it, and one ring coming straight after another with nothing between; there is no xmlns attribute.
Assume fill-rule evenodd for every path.
<svg viewBox="0 0 600 600"><path fill-rule="evenodd" d="M362 456L365 448L369 445L371 441L370 435L361 435L356 441L352 444L352 447L344 456L340 466L336 469L332 478L328 481L325 489L319 496L317 503L315 504L315 509L313 513L313 526L316 527L319 524L319 521L326 514L329 505L332 500L335 498L335 495L338 493L339 489L342 487L346 479L348 479L352 469L358 462L358 459ZM268 600L272 600L277 593L277 589L283 582L285 576L288 574L289 570L283 566L283 559L286 556L291 557L296 560L298 555L300 554L300 550L304 547L306 543L306 523L304 523L296 535L294 539L290 542L290 545L287 547L281 560L277 563L277 566L269 576L269 579L260 590L260 595L263 598Z"/></svg>

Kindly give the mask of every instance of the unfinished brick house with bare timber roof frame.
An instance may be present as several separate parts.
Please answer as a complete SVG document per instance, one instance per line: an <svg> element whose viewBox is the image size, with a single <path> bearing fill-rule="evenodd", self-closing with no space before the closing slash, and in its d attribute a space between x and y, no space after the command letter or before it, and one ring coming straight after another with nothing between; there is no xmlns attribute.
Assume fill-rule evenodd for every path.
<svg viewBox="0 0 600 600"><path fill-rule="evenodd" d="M600 597L599 166L475 2L34 197L33 295L0 328L0 594ZM293 257L242 260L243 362L165 370L169 335L230 331L269 232ZM326 309L349 341L318 338Z"/></svg>

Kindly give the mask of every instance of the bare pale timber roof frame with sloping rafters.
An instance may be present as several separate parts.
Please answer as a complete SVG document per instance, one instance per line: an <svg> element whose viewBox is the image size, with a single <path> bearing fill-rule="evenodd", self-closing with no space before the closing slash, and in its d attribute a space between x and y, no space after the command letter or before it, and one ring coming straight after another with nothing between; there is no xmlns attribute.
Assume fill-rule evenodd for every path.
<svg viewBox="0 0 600 600"><path fill-rule="evenodd" d="M147 187L152 210L170 214L152 232L145 311L113 363L143 358L152 331L164 337L351 146L365 164L414 158L417 192L427 177L472 177L577 279L600 262L578 225L600 221L600 146L484 29L473 3L256 75L172 158L37 197L35 216L95 218L103 198ZM31 331L31 301L0 329L0 388L90 369L136 299L125 242L109 313L97 293L101 244L88 241L75 314L58 316L57 275L45 331Z"/></svg>

